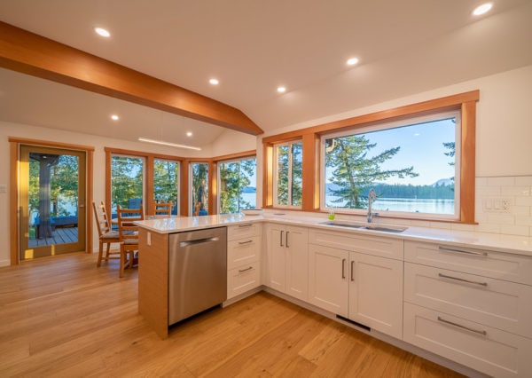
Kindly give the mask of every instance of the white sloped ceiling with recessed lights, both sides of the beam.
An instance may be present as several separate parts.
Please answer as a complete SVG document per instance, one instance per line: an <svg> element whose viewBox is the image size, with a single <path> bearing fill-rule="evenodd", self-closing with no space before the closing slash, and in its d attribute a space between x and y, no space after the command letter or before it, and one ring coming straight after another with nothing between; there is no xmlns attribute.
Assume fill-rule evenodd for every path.
<svg viewBox="0 0 532 378"><path fill-rule="evenodd" d="M481 3L0 0L0 20L235 106L274 130L532 64L532 0L494 0L473 18ZM347 67L352 56L360 63ZM193 128L198 145L222 132L7 70L0 95L6 121L116 138L108 114L118 109L131 139L182 143Z"/></svg>

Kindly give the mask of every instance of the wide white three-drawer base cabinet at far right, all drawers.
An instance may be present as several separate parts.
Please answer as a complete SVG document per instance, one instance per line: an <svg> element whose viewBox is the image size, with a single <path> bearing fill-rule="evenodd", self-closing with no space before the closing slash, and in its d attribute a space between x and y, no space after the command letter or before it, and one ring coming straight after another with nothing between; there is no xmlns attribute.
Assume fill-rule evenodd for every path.
<svg viewBox="0 0 532 378"><path fill-rule="evenodd" d="M403 340L497 377L532 376L532 258L406 241Z"/></svg>

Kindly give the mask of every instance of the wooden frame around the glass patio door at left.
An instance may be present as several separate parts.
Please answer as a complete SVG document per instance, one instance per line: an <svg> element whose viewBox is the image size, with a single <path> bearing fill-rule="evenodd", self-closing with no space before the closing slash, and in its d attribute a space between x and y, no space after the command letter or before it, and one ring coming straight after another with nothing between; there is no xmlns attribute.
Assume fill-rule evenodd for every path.
<svg viewBox="0 0 532 378"><path fill-rule="evenodd" d="M66 143L50 142L27 138L9 137L10 144L10 254L11 265L20 264L20 213L19 213L19 189L20 189L20 145L60 148L66 150L81 151L86 154L86 181L85 181L85 252L92 252L92 186L93 186L93 146L70 145Z"/></svg>

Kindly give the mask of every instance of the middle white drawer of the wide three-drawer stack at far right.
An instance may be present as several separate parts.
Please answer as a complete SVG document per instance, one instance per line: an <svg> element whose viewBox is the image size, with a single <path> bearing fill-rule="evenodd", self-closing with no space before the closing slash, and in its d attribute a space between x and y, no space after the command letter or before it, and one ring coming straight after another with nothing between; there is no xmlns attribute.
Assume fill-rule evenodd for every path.
<svg viewBox="0 0 532 378"><path fill-rule="evenodd" d="M532 287L404 264L404 300L532 338Z"/></svg>

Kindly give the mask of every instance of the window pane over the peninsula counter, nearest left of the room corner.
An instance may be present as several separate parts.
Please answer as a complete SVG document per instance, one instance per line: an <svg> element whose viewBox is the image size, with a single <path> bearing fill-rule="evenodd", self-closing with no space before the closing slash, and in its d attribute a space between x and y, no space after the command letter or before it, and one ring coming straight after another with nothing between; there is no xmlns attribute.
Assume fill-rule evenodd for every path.
<svg viewBox="0 0 532 378"><path fill-rule="evenodd" d="M220 214L255 208L256 158L220 163Z"/></svg>

